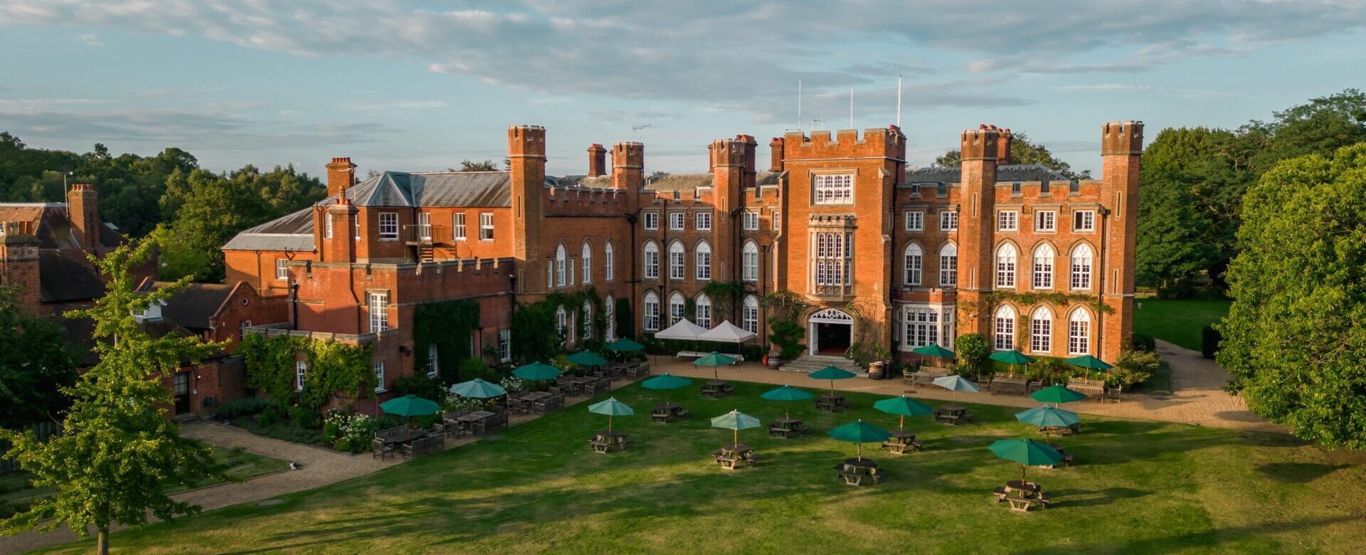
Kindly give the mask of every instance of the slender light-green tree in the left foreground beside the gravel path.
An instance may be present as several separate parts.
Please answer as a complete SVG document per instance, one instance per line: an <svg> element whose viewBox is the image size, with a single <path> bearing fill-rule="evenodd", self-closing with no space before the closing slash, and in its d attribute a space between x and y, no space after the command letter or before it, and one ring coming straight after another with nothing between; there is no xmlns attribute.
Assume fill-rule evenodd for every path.
<svg viewBox="0 0 1366 555"><path fill-rule="evenodd" d="M213 461L208 447L180 437L179 427L167 418L172 396L160 377L221 346L193 335L154 338L139 328L131 314L187 283L135 293L130 271L150 252L152 242L142 239L96 260L109 280L107 293L94 308L68 314L94 320L100 362L67 388L74 403L63 435L40 442L31 431L0 429L0 439L14 443L10 457L34 474L33 484L56 489L27 511L0 521L0 533L51 530L64 524L83 539L94 528L98 552L108 554L115 524L139 525L149 514L172 519L199 510L165 493L168 484L191 485L213 474Z"/></svg>

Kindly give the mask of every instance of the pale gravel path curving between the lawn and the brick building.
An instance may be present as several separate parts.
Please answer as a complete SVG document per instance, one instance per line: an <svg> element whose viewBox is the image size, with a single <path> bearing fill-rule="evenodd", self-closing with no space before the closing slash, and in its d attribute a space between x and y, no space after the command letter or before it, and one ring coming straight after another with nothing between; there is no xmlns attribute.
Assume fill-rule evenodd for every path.
<svg viewBox="0 0 1366 555"><path fill-rule="evenodd" d="M1242 398L1224 392L1228 381L1228 372L1213 361L1201 358L1199 353L1180 347L1164 340L1157 342L1157 353L1162 355L1172 369L1171 395L1126 395L1119 403L1081 402L1067 406L1068 410L1083 414L1112 416L1124 418L1157 420L1168 422L1198 424L1216 428L1251 429L1284 432L1284 428L1269 424L1251 411ZM679 361L668 357L650 357L653 372L669 372L676 376L712 377L712 369L694 368L688 361ZM803 373L783 372L762 368L757 364L742 364L719 369L723 380L758 381L770 384L792 384L800 387L828 387L829 381L817 384ZM613 388L628 384L616 381ZM912 395L926 399L948 401L952 394L938 387L908 387L902 380L837 380L835 388L840 391L872 392L880 395ZM958 399L971 403L1003 405L1034 407L1038 402L1022 395L992 395L992 394L958 394ZM566 406L574 406L587 401L574 398ZM511 424L518 425L527 420L538 418L538 414L512 416ZM204 507L205 511L227 507L238 503L254 503L279 495L302 489L311 489L321 485L365 476L387 466L400 463L402 459L378 461L367 454L346 455L321 447L301 446L298 443L283 442L270 437L257 436L240 428L199 421L190 422L182 428L186 437L194 437L205 443L220 447L242 447L246 451L273 457L301 463L301 470L290 470L276 474L261 476L238 484L219 484L206 488L173 493L172 498L186 500ZM445 448L463 446L477 439L459 439L445 442ZM0 554L18 554L40 547L56 545L75 540L67 530L48 533L23 533L19 536L0 537Z"/></svg>

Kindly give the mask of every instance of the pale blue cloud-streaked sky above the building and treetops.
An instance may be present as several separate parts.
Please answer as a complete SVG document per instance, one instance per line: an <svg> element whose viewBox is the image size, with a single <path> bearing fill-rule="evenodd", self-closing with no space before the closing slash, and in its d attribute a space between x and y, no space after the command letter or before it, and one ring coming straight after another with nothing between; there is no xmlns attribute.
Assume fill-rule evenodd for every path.
<svg viewBox="0 0 1366 555"><path fill-rule="evenodd" d="M642 141L705 171L719 137L896 120L912 164L993 123L1098 170L1100 124L1238 126L1366 87L1366 0L0 0L0 130L33 146L229 170L501 160L548 127L549 170ZM632 126L649 126L632 131ZM766 165L761 163L759 165Z"/></svg>

